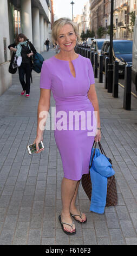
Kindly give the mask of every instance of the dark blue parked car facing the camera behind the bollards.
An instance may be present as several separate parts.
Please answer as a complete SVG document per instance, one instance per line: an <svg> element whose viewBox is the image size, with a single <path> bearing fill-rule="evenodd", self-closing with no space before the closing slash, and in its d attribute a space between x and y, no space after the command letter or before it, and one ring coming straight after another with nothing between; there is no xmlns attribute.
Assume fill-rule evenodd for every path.
<svg viewBox="0 0 137 256"><path fill-rule="evenodd" d="M132 40L113 40L113 62L119 62L119 74L125 74L125 66L132 66ZM103 68L105 68L105 58L109 57L110 41L105 40L102 45Z"/></svg>

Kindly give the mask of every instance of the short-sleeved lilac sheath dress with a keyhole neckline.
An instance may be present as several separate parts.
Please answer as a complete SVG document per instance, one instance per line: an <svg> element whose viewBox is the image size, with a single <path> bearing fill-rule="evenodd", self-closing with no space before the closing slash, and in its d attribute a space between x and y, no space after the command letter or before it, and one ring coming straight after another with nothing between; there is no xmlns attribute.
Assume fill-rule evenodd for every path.
<svg viewBox="0 0 137 256"><path fill-rule="evenodd" d="M87 96L90 84L94 84L95 80L90 59L79 54L72 63L76 77L71 74L68 61L55 56L45 60L41 70L40 88L51 89L56 102L54 136L62 159L64 178L80 180L83 174L89 172L95 135L87 135L89 129L82 126L83 115L70 119L69 114L75 111L88 112L92 116L91 125L96 127L96 121L93 124L94 108ZM78 128L75 128L74 122L79 123Z"/></svg>

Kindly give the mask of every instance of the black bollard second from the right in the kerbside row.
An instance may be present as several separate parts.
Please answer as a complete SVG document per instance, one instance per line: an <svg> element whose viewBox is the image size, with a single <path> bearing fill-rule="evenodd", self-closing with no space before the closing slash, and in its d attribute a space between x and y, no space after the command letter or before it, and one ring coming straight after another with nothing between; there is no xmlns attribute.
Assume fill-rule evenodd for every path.
<svg viewBox="0 0 137 256"><path fill-rule="evenodd" d="M114 62L112 96L115 98L119 97L119 62L116 60Z"/></svg>

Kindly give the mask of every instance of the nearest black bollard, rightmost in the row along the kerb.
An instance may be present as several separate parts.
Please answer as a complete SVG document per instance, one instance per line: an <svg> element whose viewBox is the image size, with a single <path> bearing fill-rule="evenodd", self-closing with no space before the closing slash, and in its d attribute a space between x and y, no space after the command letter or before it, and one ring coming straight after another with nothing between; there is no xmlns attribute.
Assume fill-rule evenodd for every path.
<svg viewBox="0 0 137 256"><path fill-rule="evenodd" d="M131 83L132 83L132 67L125 66L125 88L123 94L123 108L131 110Z"/></svg>

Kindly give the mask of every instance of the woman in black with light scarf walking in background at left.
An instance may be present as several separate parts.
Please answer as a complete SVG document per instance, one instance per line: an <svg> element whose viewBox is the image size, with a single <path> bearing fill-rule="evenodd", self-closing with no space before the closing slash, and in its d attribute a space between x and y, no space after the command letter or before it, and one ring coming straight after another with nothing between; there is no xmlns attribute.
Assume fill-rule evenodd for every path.
<svg viewBox="0 0 137 256"><path fill-rule="evenodd" d="M18 67L19 81L22 85L21 95L26 93L30 97L30 78L32 71L32 57L36 53L34 45L24 34L18 34L16 42L8 46L10 51L15 51L17 56L22 57L21 66Z"/></svg>

